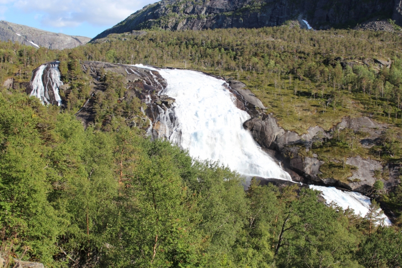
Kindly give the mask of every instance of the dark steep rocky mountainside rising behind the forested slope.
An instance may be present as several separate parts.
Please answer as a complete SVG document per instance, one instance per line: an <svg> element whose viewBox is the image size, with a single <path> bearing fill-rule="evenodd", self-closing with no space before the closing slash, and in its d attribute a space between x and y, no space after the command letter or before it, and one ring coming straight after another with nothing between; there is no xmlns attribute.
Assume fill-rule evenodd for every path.
<svg viewBox="0 0 402 268"><path fill-rule="evenodd" d="M288 20L306 20L315 29L354 27L370 19L402 23L400 0L163 0L148 5L123 22L99 34L161 28L202 30L279 26Z"/></svg>

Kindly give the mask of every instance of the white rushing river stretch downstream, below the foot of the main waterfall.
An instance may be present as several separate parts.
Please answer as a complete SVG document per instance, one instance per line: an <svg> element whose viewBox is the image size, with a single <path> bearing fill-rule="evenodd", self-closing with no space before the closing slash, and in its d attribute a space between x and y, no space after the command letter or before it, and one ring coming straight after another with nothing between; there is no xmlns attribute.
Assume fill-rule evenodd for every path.
<svg viewBox="0 0 402 268"><path fill-rule="evenodd" d="M370 198L356 192L345 192L336 189L335 187L324 187L310 185L310 189L318 190L322 192L323 197L327 201L327 204L331 202L337 203L343 209L351 208L357 215L364 217L367 215L371 205ZM382 214L385 225L390 225L391 221Z"/></svg>

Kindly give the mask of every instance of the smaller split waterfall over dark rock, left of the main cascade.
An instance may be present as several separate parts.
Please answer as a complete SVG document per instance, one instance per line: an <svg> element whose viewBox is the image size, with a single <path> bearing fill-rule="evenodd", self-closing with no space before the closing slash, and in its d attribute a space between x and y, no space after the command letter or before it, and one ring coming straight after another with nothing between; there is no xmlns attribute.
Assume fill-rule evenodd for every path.
<svg viewBox="0 0 402 268"><path fill-rule="evenodd" d="M33 71L28 90L30 90L31 96L39 98L43 104L57 104L60 106L59 87L62 84L59 62L46 63Z"/></svg>

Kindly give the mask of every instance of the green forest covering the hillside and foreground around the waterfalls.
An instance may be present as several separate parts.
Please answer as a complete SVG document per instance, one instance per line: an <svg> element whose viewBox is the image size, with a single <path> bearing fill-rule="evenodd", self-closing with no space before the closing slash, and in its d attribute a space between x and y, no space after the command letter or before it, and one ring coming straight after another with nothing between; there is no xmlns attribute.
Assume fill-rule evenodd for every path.
<svg viewBox="0 0 402 268"><path fill-rule="evenodd" d="M111 35L75 49L0 43L0 82L31 79L59 60L71 92L43 106L23 84L0 94L0 256L45 267L400 267L402 185L373 189L397 218L383 226L373 201L366 217L305 187L279 189L200 162L144 127L129 126L140 103L118 103L121 77L103 74L94 125L75 113L90 95L80 61L201 70L244 82L286 130L328 130L344 116L387 123L368 150L339 133L312 151L402 157L400 32L306 31L287 26ZM390 66L378 62L390 60ZM112 118L106 124L105 118ZM332 150L335 150L334 152ZM331 171L328 171L331 172Z"/></svg>

